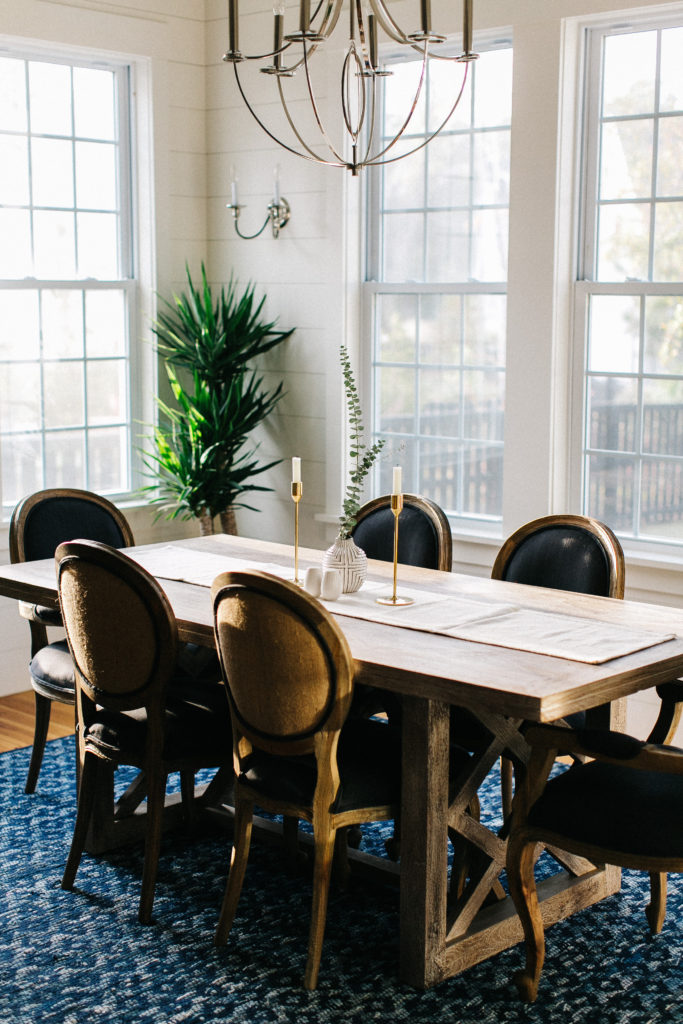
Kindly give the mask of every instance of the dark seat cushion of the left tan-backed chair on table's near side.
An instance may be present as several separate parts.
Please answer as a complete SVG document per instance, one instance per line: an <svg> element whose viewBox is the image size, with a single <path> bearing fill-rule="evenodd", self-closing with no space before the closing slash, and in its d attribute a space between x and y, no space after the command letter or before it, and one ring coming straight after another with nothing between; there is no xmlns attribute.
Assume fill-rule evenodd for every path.
<svg viewBox="0 0 683 1024"><path fill-rule="evenodd" d="M222 683L171 685L164 715L163 759L203 761L207 767L232 756L230 716ZM85 732L86 748L120 764L144 759L146 714L99 711Z"/></svg>

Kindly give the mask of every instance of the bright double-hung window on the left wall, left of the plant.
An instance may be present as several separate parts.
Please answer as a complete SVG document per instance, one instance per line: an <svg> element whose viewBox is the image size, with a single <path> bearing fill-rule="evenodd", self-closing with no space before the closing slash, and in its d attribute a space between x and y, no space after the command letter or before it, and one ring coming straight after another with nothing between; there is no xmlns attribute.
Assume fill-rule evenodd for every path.
<svg viewBox="0 0 683 1024"><path fill-rule="evenodd" d="M122 497L134 273L125 65L0 49L0 496Z"/></svg>

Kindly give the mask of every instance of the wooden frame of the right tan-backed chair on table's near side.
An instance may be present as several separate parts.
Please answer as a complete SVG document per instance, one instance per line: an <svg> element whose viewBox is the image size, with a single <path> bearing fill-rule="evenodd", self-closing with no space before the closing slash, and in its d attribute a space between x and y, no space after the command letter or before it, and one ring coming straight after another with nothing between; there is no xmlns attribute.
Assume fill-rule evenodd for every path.
<svg viewBox="0 0 683 1024"><path fill-rule="evenodd" d="M224 623L223 605L239 593L244 595L250 592L269 598L278 602L281 607L287 608L292 617L292 625L298 621L300 626L306 628L309 642L312 641L317 645L329 666L333 690L331 701L314 731L309 731L305 735L292 738L264 736L245 719L236 705L230 690L230 673L226 667L228 641L224 643L221 635ZM216 646L228 691L232 719L236 775L234 839L215 942L216 945L224 945L232 927L249 857L254 804L258 803L259 807L272 813L284 814L286 819L304 818L313 826L314 841L313 896L304 987L313 989L317 984L337 833L348 825L362 821L388 820L394 817L396 808L382 805L355 807L342 812L334 810L340 784L337 748L341 728L351 703L355 663L344 634L327 609L294 584L260 571L223 572L214 581L211 594ZM248 672L248 667L246 671ZM241 685L244 686L244 678ZM257 794L255 797L254 786L247 787L240 781L246 759L254 746L268 754L285 757L300 754L312 754L315 757L317 782L310 805L274 801L267 794Z"/></svg>

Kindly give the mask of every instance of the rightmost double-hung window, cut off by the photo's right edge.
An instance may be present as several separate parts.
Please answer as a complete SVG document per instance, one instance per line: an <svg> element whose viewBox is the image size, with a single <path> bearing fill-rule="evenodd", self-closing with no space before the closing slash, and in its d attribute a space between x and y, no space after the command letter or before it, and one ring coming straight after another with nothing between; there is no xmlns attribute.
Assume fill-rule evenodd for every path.
<svg viewBox="0 0 683 1024"><path fill-rule="evenodd" d="M682 545L683 18L587 40L574 494L634 545Z"/></svg>

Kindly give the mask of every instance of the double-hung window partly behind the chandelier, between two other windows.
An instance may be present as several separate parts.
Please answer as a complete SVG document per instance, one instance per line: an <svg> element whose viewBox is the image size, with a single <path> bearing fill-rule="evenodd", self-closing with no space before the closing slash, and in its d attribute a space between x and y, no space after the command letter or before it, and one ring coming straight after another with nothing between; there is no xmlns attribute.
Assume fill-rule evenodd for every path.
<svg viewBox="0 0 683 1024"><path fill-rule="evenodd" d="M503 487L506 289L512 49L478 45L463 98L419 153L369 177L368 335L375 436L407 490L452 521L500 528ZM388 62L383 136L402 123L420 61ZM452 102L454 69L432 60L410 127L413 144ZM446 108L447 109L447 108ZM394 458L395 456L395 458Z"/></svg>

